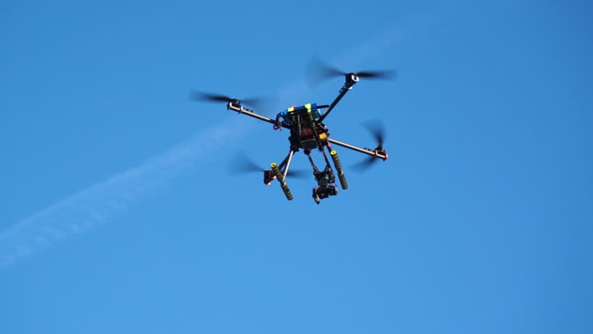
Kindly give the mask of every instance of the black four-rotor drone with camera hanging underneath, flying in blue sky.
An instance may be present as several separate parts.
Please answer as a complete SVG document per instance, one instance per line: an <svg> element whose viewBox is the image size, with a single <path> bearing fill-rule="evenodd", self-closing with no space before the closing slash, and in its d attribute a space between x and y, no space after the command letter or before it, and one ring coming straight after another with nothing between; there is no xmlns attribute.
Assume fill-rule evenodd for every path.
<svg viewBox="0 0 593 334"><path fill-rule="evenodd" d="M393 71L364 71L364 72L342 72L336 70L329 65L322 63L321 61L312 62L315 66L315 78L316 79L328 79L329 77L344 77L345 82L338 93L338 97L335 97L331 104L318 105L316 103L303 104L301 106L290 106L283 111L280 111L276 115L276 118L268 118L264 115L256 113L252 109L246 108L243 104L254 105L257 104L255 99L239 100L226 95L217 95L212 93L202 93L193 91L191 93L192 100L202 100L209 102L226 102L226 109L236 111L237 113L268 122L272 125L274 130L288 129L290 130L290 136L288 141L290 142L290 150L287 156L283 159L280 164L275 162L269 165L268 170L257 168L255 164L249 163L253 169L260 169L264 173L264 184L270 185L271 182L276 179L280 183L287 200L292 200L292 193L287 185L287 177L294 174L289 172L290 164L294 153L303 150L307 156L311 168L313 168L313 176L317 182L317 186L313 188L313 200L319 204L322 199L329 198L329 196L338 195L338 186L335 182L336 175L340 181L340 186L343 190L348 189L348 183L344 170L342 170L342 164L340 164L340 158L338 152L333 149L332 144L354 150L368 155L369 157L363 161L360 166L369 166L377 160L387 160L388 154L383 147L384 134L380 127L368 125L367 128L374 135L377 141L375 148L359 148L348 143L337 141L330 137L329 129L324 124L324 120L327 118L329 113L335 108L335 106L342 100L342 97L346 95L360 79L388 79L393 76ZM319 151L322 155L324 168L319 168L313 161L313 151ZM326 151L329 153L326 154ZM333 162L333 168L330 163L330 159Z"/></svg>

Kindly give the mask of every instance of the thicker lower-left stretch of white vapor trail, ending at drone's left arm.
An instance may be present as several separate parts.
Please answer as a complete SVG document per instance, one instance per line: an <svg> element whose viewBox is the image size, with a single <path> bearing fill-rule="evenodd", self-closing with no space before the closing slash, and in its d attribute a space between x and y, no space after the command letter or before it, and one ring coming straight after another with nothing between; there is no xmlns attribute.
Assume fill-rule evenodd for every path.
<svg viewBox="0 0 593 334"><path fill-rule="evenodd" d="M240 121L196 134L139 167L114 175L24 218L0 234L0 268L123 212L134 200L196 164L208 150L241 136L248 127L244 122L235 124Z"/></svg>

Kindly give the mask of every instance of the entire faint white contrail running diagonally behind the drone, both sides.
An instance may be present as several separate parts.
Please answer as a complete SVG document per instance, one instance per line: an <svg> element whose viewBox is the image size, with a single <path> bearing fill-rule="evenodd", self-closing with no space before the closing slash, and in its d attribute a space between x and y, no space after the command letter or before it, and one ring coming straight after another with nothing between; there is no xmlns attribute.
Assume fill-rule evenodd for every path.
<svg viewBox="0 0 593 334"><path fill-rule="evenodd" d="M389 26L364 45L349 49L348 56L360 61L378 54L395 42L429 28L436 21L438 17L423 14L402 24ZM308 90L301 79L288 84L278 95L283 101L294 100L299 93ZM0 233L0 269L54 246L66 237L84 232L94 225L106 223L116 214L124 212L134 201L154 191L183 170L191 168L207 155L209 150L215 150L220 145L242 136L253 124L244 121L245 118L240 118L232 121L230 125L227 122L207 132L196 134L175 148L148 159L139 167L89 186L19 221ZM215 142L216 145L204 148L205 141Z"/></svg>

